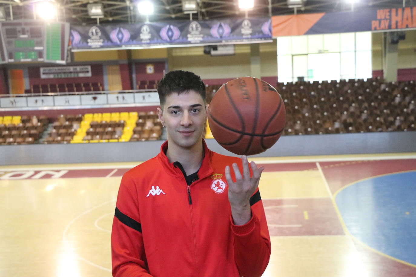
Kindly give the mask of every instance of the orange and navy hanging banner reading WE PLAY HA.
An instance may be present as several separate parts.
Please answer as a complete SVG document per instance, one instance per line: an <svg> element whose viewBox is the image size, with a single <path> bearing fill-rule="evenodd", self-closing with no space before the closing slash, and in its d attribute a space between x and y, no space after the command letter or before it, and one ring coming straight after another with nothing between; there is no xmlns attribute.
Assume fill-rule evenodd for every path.
<svg viewBox="0 0 416 277"><path fill-rule="evenodd" d="M273 37L416 28L416 7L272 17Z"/></svg>

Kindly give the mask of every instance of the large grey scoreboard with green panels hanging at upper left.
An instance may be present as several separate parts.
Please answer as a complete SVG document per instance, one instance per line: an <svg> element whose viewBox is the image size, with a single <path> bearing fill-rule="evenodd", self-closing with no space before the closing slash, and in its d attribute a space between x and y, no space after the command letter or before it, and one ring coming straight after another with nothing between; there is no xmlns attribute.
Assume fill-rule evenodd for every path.
<svg viewBox="0 0 416 277"><path fill-rule="evenodd" d="M0 23L0 63L22 61L65 64L69 23L36 20Z"/></svg>

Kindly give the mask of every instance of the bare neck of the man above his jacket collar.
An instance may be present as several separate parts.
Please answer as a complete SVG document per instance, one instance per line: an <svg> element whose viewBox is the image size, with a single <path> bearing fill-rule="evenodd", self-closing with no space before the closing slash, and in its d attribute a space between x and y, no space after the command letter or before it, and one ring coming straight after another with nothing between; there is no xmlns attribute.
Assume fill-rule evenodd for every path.
<svg viewBox="0 0 416 277"><path fill-rule="evenodd" d="M196 172L201 167L203 159L202 138L189 148L183 148L174 143L169 143L168 140L166 157L168 157L171 163L180 162L186 175Z"/></svg>

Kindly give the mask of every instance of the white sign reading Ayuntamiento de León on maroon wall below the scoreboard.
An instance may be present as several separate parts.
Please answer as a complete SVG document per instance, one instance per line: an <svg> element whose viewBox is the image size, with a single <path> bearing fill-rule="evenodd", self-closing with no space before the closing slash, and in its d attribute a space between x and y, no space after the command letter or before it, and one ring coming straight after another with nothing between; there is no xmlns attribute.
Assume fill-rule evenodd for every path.
<svg viewBox="0 0 416 277"><path fill-rule="evenodd" d="M40 68L40 78L91 77L91 66L51 66Z"/></svg>

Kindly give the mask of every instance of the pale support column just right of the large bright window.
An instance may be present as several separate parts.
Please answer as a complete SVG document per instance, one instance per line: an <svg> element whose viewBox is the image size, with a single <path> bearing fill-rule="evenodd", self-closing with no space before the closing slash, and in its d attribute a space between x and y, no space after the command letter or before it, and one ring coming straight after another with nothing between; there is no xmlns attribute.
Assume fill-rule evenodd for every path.
<svg viewBox="0 0 416 277"><path fill-rule="evenodd" d="M397 81L399 43L392 44L389 32L383 33L383 77L384 81Z"/></svg>

